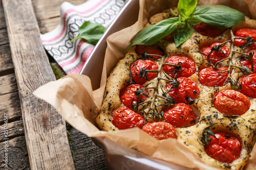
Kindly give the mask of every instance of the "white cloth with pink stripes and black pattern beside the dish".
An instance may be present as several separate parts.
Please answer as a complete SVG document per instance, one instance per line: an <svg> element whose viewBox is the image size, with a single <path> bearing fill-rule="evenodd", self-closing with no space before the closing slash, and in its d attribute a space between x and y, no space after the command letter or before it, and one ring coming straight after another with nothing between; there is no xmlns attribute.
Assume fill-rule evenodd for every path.
<svg viewBox="0 0 256 170"><path fill-rule="evenodd" d="M60 7L59 26L40 35L42 44L66 74L79 73L94 48L94 45L82 39L71 42L78 35L79 27L84 21L108 27L126 2L127 0L90 0L79 6L63 3Z"/></svg>

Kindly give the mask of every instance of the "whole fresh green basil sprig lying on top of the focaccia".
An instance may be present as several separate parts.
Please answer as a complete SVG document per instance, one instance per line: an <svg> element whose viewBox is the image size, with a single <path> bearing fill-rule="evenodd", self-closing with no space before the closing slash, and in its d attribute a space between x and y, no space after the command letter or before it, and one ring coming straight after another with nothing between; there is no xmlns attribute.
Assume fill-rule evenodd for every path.
<svg viewBox="0 0 256 170"><path fill-rule="evenodd" d="M197 0L180 0L179 15L164 19L156 25L141 30L130 46L136 44L153 45L174 32L176 46L185 42L193 33L191 26L200 22L216 28L231 27L244 21L244 14L223 5L196 6Z"/></svg>

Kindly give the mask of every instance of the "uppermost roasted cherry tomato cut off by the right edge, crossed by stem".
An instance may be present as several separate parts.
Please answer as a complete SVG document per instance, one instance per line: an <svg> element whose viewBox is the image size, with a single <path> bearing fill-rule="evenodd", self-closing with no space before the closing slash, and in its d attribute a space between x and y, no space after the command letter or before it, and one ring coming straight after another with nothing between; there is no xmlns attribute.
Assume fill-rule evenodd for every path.
<svg viewBox="0 0 256 170"><path fill-rule="evenodd" d="M234 32L234 36L236 37L249 37L251 36L254 38L254 42L250 45L250 50L255 50L256 49L256 30L255 29L238 29L236 32ZM236 46L242 46L244 43L246 43L245 39L235 39L234 40L234 45Z"/></svg>

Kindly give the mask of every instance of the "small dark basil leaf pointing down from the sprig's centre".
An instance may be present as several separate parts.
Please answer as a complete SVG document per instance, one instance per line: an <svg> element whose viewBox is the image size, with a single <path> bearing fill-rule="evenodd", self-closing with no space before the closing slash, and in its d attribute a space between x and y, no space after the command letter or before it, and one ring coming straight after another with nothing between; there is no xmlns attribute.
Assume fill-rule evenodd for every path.
<svg viewBox="0 0 256 170"><path fill-rule="evenodd" d="M188 24L181 25L180 28L178 28L174 32L174 41L176 46L179 46L180 44L185 42L192 33L193 33L193 28L191 26L189 26Z"/></svg>

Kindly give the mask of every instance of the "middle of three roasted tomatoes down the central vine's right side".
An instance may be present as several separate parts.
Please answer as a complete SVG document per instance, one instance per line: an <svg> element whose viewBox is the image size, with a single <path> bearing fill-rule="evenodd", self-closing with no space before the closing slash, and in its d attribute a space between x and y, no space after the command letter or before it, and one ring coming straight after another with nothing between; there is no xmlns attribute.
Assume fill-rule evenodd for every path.
<svg viewBox="0 0 256 170"><path fill-rule="evenodd" d="M196 99L200 93L196 82L185 77L178 78L177 81L180 83L179 87L173 88L168 94L174 98L176 103L193 103L192 100ZM172 86L169 84L166 89L169 90Z"/></svg>

